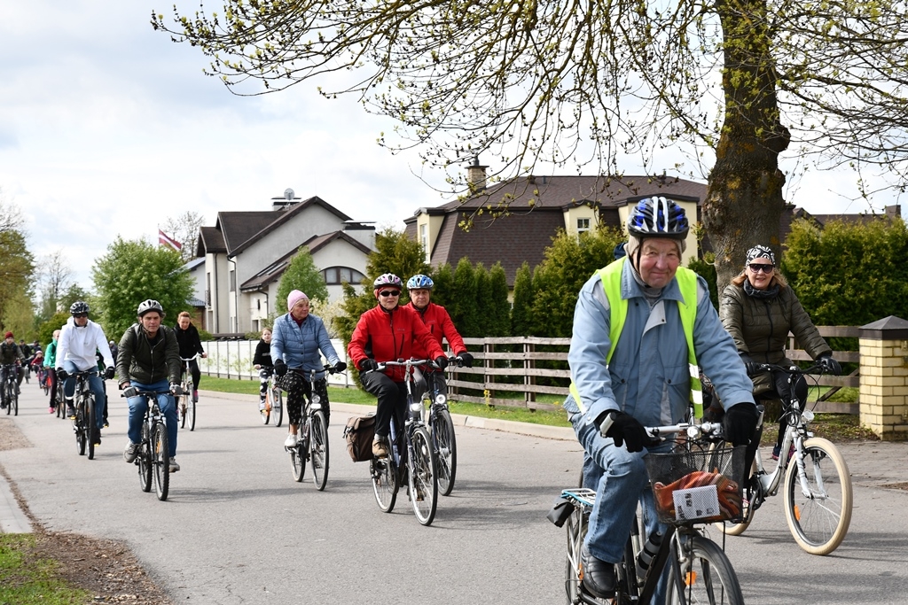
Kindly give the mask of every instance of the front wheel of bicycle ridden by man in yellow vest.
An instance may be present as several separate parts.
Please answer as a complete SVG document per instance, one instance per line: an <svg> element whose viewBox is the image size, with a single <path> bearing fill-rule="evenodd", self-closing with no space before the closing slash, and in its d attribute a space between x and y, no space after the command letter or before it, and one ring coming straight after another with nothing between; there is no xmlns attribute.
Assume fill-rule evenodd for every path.
<svg viewBox="0 0 908 605"><path fill-rule="evenodd" d="M674 566L669 567L668 598L671 605L744 605L744 595L735 569L725 552L716 542L700 535L687 536L682 546L680 582L675 577ZM678 593L678 584L684 594Z"/></svg>

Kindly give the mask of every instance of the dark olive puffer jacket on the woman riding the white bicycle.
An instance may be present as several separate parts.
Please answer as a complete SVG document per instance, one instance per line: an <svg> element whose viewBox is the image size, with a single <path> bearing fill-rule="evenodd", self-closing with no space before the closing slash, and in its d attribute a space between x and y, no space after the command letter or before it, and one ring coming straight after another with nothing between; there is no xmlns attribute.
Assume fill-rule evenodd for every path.
<svg viewBox="0 0 908 605"><path fill-rule="evenodd" d="M792 288L772 288L777 288L775 296L751 296L744 287L734 284L723 290L719 317L735 339L738 352L748 354L758 364L791 365L791 360L785 357L790 331L798 345L814 359L832 353ZM764 374L752 376L755 395L762 392L763 382L769 385L768 373Z"/></svg>

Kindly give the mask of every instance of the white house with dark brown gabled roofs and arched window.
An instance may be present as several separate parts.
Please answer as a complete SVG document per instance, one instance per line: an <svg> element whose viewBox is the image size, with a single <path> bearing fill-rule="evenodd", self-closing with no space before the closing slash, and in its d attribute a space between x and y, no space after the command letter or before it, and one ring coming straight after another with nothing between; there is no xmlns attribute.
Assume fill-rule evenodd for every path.
<svg viewBox="0 0 908 605"><path fill-rule="evenodd" d="M269 315L286 312L275 299L277 288L301 246L321 269L332 301L341 298L342 282L359 287L375 249L375 227L318 196L301 200L291 189L271 199L271 210L219 212L213 227L200 229L196 249L205 259L206 329L258 331Z"/></svg>

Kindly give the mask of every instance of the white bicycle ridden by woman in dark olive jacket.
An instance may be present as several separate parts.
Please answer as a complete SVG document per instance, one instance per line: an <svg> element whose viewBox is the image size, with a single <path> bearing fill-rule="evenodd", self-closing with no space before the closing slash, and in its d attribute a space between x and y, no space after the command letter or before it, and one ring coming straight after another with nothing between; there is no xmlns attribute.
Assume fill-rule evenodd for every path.
<svg viewBox="0 0 908 605"><path fill-rule="evenodd" d="M806 409L806 389L803 399L798 398L795 385L804 375L820 371L819 365L804 370L797 366L784 367L760 364L761 370L784 372L788 375L791 398L782 402L782 415L786 419L782 455L771 473L765 469L757 449L750 480L745 484L745 517L742 522L721 524L727 535L745 532L754 513L765 499L775 496L785 481L783 500L785 520L798 546L811 554L825 555L838 548L851 523L854 497L848 464L834 444L807 430L814 420L813 410ZM763 415L757 426L755 439L763 434ZM794 448L794 454L787 454ZM795 464L791 464L794 461ZM832 469L829 468L830 464ZM832 471L832 472L830 472Z"/></svg>

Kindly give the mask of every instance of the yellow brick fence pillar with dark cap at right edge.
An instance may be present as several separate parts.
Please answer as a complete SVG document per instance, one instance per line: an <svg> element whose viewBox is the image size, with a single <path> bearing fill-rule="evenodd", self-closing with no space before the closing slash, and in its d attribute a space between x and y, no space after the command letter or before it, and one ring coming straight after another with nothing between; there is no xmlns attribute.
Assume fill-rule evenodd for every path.
<svg viewBox="0 0 908 605"><path fill-rule="evenodd" d="M908 440L908 321L884 317L862 326L861 424L883 441Z"/></svg>

